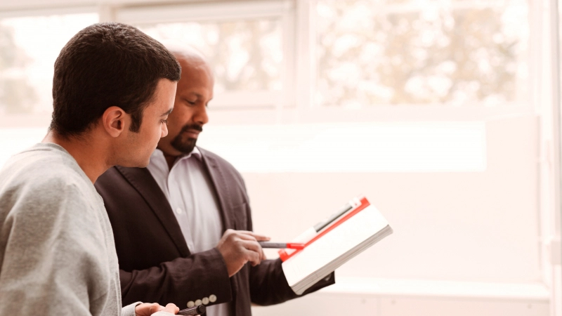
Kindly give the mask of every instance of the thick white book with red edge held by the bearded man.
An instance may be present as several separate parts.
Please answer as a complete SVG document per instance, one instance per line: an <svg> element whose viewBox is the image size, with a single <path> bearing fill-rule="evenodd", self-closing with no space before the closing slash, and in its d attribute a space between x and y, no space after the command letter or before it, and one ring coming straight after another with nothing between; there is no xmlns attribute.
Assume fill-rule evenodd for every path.
<svg viewBox="0 0 562 316"><path fill-rule="evenodd" d="M355 202L354 202L355 201ZM365 249L391 235L386 219L365 197L353 199L351 209L315 234L294 242L305 242L302 250L280 251L283 272L296 294L303 294L320 279L357 256Z"/></svg>

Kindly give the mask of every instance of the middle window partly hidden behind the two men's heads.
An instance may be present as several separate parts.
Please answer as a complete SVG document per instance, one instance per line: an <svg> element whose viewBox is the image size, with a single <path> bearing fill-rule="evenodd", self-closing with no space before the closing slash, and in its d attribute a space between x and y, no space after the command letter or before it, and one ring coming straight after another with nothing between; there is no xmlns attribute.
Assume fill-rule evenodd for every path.
<svg viewBox="0 0 562 316"><path fill-rule="evenodd" d="M292 98L292 9L280 0L226 1L124 8L117 20L201 51L214 67L211 109L273 110Z"/></svg>

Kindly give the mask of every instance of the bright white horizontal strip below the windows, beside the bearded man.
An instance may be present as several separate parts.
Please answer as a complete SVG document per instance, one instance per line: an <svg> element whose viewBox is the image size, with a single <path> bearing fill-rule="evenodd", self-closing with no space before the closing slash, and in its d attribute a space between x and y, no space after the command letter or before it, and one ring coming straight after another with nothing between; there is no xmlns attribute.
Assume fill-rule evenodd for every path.
<svg viewBox="0 0 562 316"><path fill-rule="evenodd" d="M480 172L485 122L209 126L204 148L248 173Z"/></svg>

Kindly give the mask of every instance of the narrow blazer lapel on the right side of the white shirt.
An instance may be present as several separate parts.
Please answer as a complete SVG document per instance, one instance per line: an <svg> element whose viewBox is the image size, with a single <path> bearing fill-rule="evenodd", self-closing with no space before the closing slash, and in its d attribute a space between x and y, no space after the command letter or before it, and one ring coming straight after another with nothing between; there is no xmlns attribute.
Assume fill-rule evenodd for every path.
<svg viewBox="0 0 562 316"><path fill-rule="evenodd" d="M221 169L218 167L216 159L207 154L207 152L201 147L198 148L203 158L203 164L207 167L207 171L209 171L209 176L211 177L211 181L215 187L218 203L221 204L223 230L228 230L229 228L234 229L234 215L232 208L230 207L230 190L228 189L226 179L224 178Z"/></svg>

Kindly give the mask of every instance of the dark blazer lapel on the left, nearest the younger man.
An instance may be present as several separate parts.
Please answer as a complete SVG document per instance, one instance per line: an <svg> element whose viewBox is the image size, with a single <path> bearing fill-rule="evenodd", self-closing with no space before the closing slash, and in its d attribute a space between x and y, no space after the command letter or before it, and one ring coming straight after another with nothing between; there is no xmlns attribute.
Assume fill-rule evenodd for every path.
<svg viewBox="0 0 562 316"><path fill-rule="evenodd" d="M180 225L174 211L160 189L156 180L152 178L150 171L146 168L126 168L116 166L117 170L122 173L126 180L138 191L138 193L146 201L150 209L156 214L174 244L178 247L181 256L187 257L190 255L188 244L185 243L185 238L181 232Z"/></svg>

